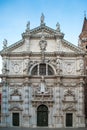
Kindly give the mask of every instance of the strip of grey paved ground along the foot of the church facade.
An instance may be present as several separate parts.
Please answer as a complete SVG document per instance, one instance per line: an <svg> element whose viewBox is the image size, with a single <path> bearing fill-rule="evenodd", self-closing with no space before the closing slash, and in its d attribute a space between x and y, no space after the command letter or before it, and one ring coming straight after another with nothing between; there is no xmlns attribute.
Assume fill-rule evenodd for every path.
<svg viewBox="0 0 87 130"><path fill-rule="evenodd" d="M0 127L0 130L87 130L87 128L23 128L23 127Z"/></svg>

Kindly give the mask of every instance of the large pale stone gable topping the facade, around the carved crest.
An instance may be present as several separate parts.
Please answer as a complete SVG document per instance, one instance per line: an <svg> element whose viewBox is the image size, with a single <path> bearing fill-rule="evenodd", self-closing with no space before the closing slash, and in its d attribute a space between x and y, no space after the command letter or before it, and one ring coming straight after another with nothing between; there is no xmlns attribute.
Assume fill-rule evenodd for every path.
<svg viewBox="0 0 87 130"><path fill-rule="evenodd" d="M58 30L52 29L48 26L38 26L34 29L31 29L29 31L25 31L22 34L22 40L16 42L15 44L12 44L9 47L6 47L5 49L3 49L1 51L1 54L3 53L21 53L21 52L41 52L40 50L40 46L39 45L39 41L41 40L42 35L45 37L45 39L47 40L47 47L46 47L46 51L45 52L64 52L64 53L84 53L84 51L73 45L72 43L66 41L63 39L64 34L61 33L60 31L58 32ZM27 39L37 39L37 41L34 41L31 43L29 43L31 46L29 47L28 44L26 44L26 38ZM49 40L48 40L49 39ZM61 42L57 42L57 39L61 39ZM29 47L30 50L27 48ZM35 49L37 48L37 49Z"/></svg>

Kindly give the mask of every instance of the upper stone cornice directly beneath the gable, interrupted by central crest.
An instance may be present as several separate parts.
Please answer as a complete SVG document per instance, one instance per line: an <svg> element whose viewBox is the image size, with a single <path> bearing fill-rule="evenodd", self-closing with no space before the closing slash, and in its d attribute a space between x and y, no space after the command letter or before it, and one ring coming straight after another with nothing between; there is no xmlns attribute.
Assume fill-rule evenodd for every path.
<svg viewBox="0 0 87 130"><path fill-rule="evenodd" d="M25 57L25 56L41 56L41 52L4 52L1 54L2 56L7 56L7 57ZM45 57L46 56L61 56L61 57L77 57L77 56L84 56L85 53L83 52L63 52L63 51L55 51L55 52L45 52Z"/></svg>

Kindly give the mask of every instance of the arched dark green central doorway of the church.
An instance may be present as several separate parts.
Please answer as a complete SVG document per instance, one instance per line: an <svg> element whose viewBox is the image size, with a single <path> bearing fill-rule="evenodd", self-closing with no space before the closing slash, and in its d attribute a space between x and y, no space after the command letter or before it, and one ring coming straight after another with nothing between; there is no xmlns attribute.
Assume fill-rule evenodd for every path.
<svg viewBox="0 0 87 130"><path fill-rule="evenodd" d="M37 108L37 126L48 126L48 107L45 105Z"/></svg>

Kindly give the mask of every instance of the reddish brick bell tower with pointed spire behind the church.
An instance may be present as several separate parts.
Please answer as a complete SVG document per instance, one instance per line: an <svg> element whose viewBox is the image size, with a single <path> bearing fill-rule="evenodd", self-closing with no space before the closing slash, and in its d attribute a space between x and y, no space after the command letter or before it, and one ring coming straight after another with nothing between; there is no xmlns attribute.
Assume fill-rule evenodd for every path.
<svg viewBox="0 0 87 130"><path fill-rule="evenodd" d="M84 17L82 32L79 35L79 46L85 51L84 56L84 74L85 78L85 87L84 87L84 104L85 104L85 119L87 122L87 18L86 15ZM86 124L87 125L87 124Z"/></svg>

